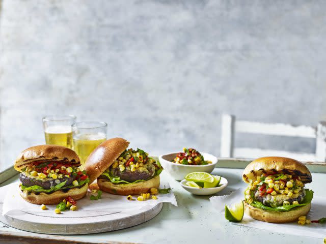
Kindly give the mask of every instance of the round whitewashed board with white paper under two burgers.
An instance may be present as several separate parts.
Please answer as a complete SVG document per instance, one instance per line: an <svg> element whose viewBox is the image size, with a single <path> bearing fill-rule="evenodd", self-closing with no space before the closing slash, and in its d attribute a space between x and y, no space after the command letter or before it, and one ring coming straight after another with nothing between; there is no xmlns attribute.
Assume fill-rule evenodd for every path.
<svg viewBox="0 0 326 244"><path fill-rule="evenodd" d="M0 189L0 209L4 212L0 214L0 220L20 230L43 234L75 235L124 229L151 220L162 209L162 201L169 202L163 200L169 194L159 197L160 201L140 202L107 193L103 193L101 199L91 201L88 193L85 198L77 201L77 211L66 210L57 215L54 212L56 205L41 210L39 205L24 201L19 192L14 190L18 189L17 184L18 182ZM174 194L171 194L175 199Z"/></svg>

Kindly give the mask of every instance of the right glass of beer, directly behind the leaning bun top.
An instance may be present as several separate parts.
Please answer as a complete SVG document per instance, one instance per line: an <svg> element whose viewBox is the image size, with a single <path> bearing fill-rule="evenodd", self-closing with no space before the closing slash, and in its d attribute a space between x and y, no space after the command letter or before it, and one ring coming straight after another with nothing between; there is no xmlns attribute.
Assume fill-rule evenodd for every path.
<svg viewBox="0 0 326 244"><path fill-rule="evenodd" d="M79 156L82 168L92 151L106 140L107 124L104 122L85 121L72 125L74 150Z"/></svg>

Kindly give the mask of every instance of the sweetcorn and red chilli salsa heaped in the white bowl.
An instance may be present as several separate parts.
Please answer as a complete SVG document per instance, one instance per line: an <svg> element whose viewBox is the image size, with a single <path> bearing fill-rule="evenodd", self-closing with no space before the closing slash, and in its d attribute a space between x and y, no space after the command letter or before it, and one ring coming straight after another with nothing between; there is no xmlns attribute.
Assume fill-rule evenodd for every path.
<svg viewBox="0 0 326 244"><path fill-rule="evenodd" d="M212 163L211 161L204 160L204 157L196 149L185 147L183 147L183 152L179 153L172 162L184 165L206 165Z"/></svg>

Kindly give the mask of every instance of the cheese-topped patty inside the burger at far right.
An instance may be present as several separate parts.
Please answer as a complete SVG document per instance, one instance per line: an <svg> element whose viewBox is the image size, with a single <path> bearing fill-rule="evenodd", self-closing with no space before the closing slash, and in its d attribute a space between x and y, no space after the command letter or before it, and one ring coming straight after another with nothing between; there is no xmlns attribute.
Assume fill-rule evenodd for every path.
<svg viewBox="0 0 326 244"><path fill-rule="evenodd" d="M284 194L277 194L275 196L264 194L263 196L260 196L259 191L255 193L255 198L257 201L262 202L265 206L270 207L282 206L284 201L288 201L290 204L292 204L293 201L298 201L298 203L300 203L305 196L306 191L304 189L302 189L299 193L293 193L291 197L288 197Z"/></svg>

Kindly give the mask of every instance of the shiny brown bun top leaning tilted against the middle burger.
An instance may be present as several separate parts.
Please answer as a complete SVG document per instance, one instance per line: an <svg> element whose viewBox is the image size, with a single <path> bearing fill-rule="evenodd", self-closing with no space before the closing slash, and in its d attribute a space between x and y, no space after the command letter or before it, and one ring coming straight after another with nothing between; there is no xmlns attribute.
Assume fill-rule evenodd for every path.
<svg viewBox="0 0 326 244"><path fill-rule="evenodd" d="M127 149L129 142L123 138L108 139L99 144L88 156L85 170L91 184Z"/></svg>

